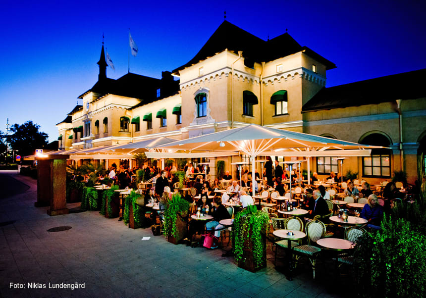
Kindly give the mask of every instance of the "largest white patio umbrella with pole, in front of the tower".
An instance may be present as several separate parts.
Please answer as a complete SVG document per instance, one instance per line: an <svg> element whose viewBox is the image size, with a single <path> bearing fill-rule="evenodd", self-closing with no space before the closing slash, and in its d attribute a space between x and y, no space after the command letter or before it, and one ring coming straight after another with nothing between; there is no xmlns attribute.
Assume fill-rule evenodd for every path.
<svg viewBox="0 0 426 298"><path fill-rule="evenodd" d="M374 146L330 139L315 135L292 132L250 124L230 130L176 141L159 146L161 149L187 151L241 151L250 156L252 179L255 179L255 159L258 155L275 155L277 151L326 151L345 149L371 149ZM370 150L365 150L370 155ZM254 185L254 181L252 181ZM254 190L253 190L254 195Z"/></svg>

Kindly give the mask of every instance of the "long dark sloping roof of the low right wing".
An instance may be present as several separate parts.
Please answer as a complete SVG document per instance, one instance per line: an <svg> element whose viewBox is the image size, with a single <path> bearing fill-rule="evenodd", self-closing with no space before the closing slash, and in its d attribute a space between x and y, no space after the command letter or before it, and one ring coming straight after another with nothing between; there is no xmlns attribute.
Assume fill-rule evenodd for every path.
<svg viewBox="0 0 426 298"><path fill-rule="evenodd" d="M426 69L322 88L302 112L426 97Z"/></svg>

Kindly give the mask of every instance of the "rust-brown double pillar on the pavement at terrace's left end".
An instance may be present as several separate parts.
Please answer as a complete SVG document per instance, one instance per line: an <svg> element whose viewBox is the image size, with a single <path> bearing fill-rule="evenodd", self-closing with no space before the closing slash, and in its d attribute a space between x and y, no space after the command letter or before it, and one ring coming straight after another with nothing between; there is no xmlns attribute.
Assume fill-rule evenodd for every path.
<svg viewBox="0 0 426 298"><path fill-rule="evenodd" d="M68 214L66 207L66 159L69 155L47 155L37 160L36 207L49 206L51 216ZM53 159L54 158L54 159Z"/></svg>

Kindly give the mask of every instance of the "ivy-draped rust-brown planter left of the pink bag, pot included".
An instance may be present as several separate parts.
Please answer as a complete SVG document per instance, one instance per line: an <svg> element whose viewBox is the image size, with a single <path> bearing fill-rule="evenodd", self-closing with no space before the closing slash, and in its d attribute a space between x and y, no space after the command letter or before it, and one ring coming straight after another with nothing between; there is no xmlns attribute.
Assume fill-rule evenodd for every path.
<svg viewBox="0 0 426 298"><path fill-rule="evenodd" d="M164 233L169 242L177 244L185 238L188 230L188 213L189 202L179 194L174 194L164 211Z"/></svg>

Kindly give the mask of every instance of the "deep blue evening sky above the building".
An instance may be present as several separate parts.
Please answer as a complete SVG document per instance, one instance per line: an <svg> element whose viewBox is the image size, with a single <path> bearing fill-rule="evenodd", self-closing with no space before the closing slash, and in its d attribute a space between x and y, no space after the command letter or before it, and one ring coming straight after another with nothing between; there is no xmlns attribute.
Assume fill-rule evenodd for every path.
<svg viewBox="0 0 426 298"><path fill-rule="evenodd" d="M334 62L327 87L426 68L424 0L146 2L3 1L0 130L7 117L33 120L56 140L55 124L98 79L103 32L115 65L108 77L127 72L130 27L139 47L130 71L160 78L201 49L224 10L226 20L264 40L288 28Z"/></svg>

